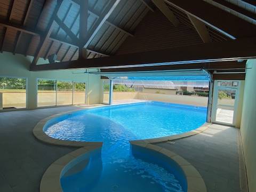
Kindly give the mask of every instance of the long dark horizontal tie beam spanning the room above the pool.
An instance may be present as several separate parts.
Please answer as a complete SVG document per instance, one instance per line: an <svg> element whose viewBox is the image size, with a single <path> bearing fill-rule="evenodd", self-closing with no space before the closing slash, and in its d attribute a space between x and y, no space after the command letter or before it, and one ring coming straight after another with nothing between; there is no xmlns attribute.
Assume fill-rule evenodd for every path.
<svg viewBox="0 0 256 192"><path fill-rule="evenodd" d="M256 58L256 38L230 40L221 43L202 43L172 47L164 50L114 55L97 59L86 59L39 65L31 70L54 70L76 68L123 68L145 67L203 62L233 61Z"/></svg>

